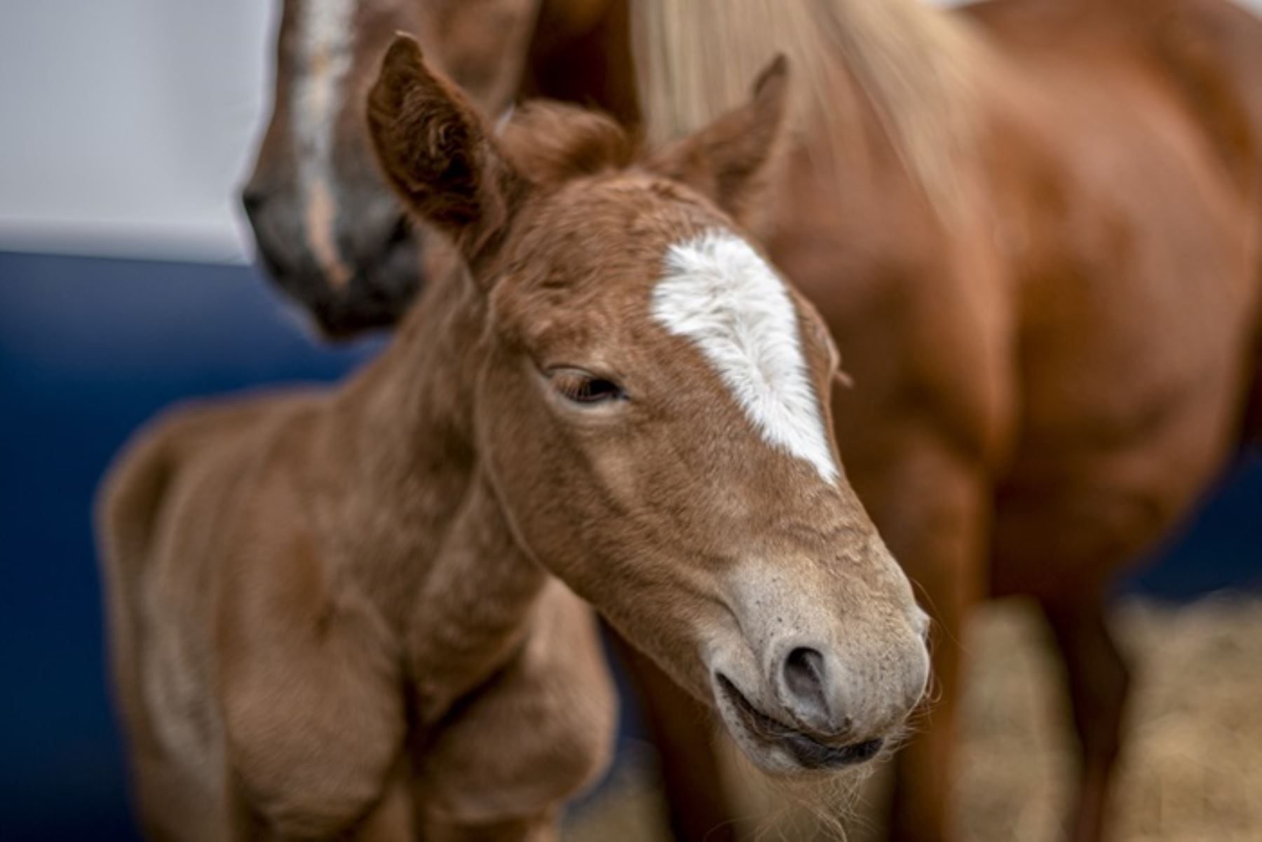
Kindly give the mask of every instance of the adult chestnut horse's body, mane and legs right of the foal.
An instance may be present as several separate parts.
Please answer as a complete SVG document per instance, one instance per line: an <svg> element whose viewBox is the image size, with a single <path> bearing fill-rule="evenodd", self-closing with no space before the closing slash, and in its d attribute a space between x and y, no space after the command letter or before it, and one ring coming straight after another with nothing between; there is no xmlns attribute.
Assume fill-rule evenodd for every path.
<svg viewBox="0 0 1262 842"><path fill-rule="evenodd" d="M1108 583L1258 400L1262 27L1219 0L634 10L601 32L637 34L650 134L726 105L774 49L805 71L766 241L838 337L849 477L939 621L943 699L899 756L893 836L946 832L964 619L1025 593L1082 742L1069 831L1099 838L1127 688ZM625 44L610 56L579 78L635 90Z"/></svg>

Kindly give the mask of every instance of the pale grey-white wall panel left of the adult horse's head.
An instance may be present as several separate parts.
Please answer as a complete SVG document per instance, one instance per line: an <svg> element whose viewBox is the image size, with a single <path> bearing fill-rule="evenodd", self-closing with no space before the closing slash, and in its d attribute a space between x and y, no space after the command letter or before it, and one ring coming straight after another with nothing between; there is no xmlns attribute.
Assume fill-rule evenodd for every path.
<svg viewBox="0 0 1262 842"><path fill-rule="evenodd" d="M273 5L0 3L0 247L244 259Z"/></svg>

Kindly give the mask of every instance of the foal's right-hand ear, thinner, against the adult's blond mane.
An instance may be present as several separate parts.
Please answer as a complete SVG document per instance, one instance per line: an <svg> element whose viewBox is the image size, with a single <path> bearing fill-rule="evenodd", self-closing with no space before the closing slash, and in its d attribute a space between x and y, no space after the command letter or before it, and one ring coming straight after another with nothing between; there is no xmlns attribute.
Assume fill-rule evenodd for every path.
<svg viewBox="0 0 1262 842"><path fill-rule="evenodd" d="M789 63L776 56L750 100L649 158L649 169L700 191L748 223L771 178L787 111Z"/></svg>

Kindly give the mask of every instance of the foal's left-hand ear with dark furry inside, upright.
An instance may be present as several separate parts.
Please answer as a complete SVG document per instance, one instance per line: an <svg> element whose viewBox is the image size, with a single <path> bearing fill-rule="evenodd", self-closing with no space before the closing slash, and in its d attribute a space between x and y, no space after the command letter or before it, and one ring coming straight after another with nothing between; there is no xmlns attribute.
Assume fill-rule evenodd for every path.
<svg viewBox="0 0 1262 842"><path fill-rule="evenodd" d="M395 35L381 62L369 93L369 134L387 181L422 220L454 237L471 265L493 252L526 181L409 35Z"/></svg>

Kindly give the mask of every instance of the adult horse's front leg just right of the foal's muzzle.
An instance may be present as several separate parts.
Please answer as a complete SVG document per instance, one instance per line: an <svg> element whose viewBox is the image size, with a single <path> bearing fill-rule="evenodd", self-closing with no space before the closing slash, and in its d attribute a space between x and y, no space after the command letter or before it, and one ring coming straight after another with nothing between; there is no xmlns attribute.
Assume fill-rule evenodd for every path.
<svg viewBox="0 0 1262 842"><path fill-rule="evenodd" d="M890 839L952 838L952 762L964 622L984 596L989 486L967 456L935 434L906 442L868 483L856 477L877 528L934 619L934 692L896 755Z"/></svg>

